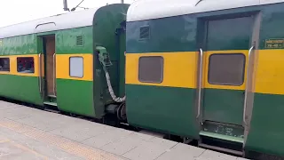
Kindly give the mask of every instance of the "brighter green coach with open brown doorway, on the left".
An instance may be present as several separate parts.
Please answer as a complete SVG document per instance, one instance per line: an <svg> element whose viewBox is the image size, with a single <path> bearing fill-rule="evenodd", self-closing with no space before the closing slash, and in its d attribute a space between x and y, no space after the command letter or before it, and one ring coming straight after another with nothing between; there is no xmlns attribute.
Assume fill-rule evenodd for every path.
<svg viewBox="0 0 284 160"><path fill-rule="evenodd" d="M0 96L104 116L115 101L100 61L112 77L112 93L124 96L128 7L110 4L0 28Z"/></svg>

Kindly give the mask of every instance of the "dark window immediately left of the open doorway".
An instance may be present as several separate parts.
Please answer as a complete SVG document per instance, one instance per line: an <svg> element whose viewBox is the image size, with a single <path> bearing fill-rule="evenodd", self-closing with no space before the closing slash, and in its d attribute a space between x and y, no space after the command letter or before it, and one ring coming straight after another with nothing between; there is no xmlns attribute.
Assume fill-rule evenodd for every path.
<svg viewBox="0 0 284 160"><path fill-rule="evenodd" d="M35 73L35 65L33 57L18 57L17 71L20 73Z"/></svg>

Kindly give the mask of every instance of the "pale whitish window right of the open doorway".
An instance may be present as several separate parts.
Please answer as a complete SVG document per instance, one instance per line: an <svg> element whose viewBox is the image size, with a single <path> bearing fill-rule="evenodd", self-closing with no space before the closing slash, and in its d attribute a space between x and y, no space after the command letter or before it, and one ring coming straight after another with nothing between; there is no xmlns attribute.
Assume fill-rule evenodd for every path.
<svg viewBox="0 0 284 160"><path fill-rule="evenodd" d="M71 77L83 77L83 57L69 58L69 75Z"/></svg>

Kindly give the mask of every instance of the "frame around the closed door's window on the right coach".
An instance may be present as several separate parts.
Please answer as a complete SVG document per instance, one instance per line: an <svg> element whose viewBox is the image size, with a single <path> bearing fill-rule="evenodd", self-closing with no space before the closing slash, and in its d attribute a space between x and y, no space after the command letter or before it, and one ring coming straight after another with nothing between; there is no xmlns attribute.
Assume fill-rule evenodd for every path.
<svg viewBox="0 0 284 160"><path fill-rule="evenodd" d="M242 74L241 74L241 84L233 84L233 83L225 83L225 84L220 84L220 83L212 83L209 81L210 79L210 64L211 64L211 57L214 55L241 55L243 57L244 63L243 63L243 67L242 67ZM209 84L213 84L213 85L226 85L226 86L241 86L242 84L245 83L245 73L246 73L246 62L247 62L247 57L243 52L225 52L225 53L212 53L209 55L209 63L208 63L208 73L207 73L207 82Z"/></svg>

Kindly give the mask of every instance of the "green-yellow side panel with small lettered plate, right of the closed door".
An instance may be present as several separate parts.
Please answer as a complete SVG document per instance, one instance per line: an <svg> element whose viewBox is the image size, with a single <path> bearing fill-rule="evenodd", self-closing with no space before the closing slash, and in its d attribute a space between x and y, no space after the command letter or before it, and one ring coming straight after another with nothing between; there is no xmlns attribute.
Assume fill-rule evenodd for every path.
<svg viewBox="0 0 284 160"><path fill-rule="evenodd" d="M284 156L284 4L264 6L246 148Z"/></svg>

